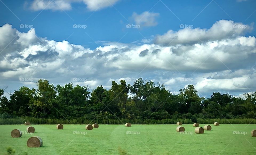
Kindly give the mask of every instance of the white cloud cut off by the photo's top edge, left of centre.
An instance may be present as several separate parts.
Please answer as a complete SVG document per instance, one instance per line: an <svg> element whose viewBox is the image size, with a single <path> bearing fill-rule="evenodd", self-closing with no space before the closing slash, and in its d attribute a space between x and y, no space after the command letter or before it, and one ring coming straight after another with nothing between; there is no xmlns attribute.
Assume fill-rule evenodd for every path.
<svg viewBox="0 0 256 155"><path fill-rule="evenodd" d="M30 8L34 11L38 10L71 10L72 3L86 4L87 9L90 11L101 10L103 8L114 5L119 0L34 0Z"/></svg>

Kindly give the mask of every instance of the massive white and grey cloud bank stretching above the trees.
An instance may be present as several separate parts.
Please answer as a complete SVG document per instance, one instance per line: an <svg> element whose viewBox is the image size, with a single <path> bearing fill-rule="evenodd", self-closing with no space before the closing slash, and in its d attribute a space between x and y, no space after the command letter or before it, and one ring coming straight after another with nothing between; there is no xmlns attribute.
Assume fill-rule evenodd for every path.
<svg viewBox="0 0 256 155"><path fill-rule="evenodd" d="M0 86L8 84L13 90L21 85L34 87L30 81L20 79L36 82L43 78L55 85L73 82L94 89L102 84L109 89L111 80L126 79L133 84L142 77L165 83L173 92L194 84L201 96L214 91L234 95L253 92L256 90L256 39L243 36L246 29L236 30L232 26L220 29L219 36L210 37L215 26L223 23L237 24L222 20L208 30L190 29L188 34L201 37L201 41L176 38L178 43L168 46L104 42L105 45L95 49L41 38L34 28L19 32L5 24L0 27L0 49L3 49L0 54L5 57L0 55ZM208 37L203 38L201 33ZM235 35L229 37L229 33Z"/></svg>

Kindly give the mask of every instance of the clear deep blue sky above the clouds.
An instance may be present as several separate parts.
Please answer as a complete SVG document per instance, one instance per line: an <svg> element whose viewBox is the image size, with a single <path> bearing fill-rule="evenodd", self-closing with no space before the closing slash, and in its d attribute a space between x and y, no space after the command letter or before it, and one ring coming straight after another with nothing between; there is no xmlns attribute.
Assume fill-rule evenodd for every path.
<svg viewBox="0 0 256 155"><path fill-rule="evenodd" d="M121 39L126 32L128 33L120 42L130 43L142 40L144 37L150 38L151 35L163 34L170 29L177 31L180 29L180 24L210 28L216 21L221 19L250 24L255 22L255 15L248 17L255 11L256 6L256 1L253 0L242 2L235 0L188 0L180 2L124 0L116 2L113 7L94 12L86 9L86 5L82 2L72 3L72 9L64 11L33 11L29 9L29 4L32 1L8 0L2 2L17 17L2 3L0 5L1 25L10 23L21 32L28 31L29 28L19 28L20 24L33 25L37 35L40 37L47 37L56 41L68 40L70 43L81 44L90 48L98 46L94 43L94 40L115 42ZM135 24L131 19L134 12L141 14L149 10L160 14L155 19L158 23L157 26L145 27L139 30L126 28L126 24ZM74 29L73 24L87 25L87 28L86 30ZM251 32L251 35L255 35L255 30Z"/></svg>

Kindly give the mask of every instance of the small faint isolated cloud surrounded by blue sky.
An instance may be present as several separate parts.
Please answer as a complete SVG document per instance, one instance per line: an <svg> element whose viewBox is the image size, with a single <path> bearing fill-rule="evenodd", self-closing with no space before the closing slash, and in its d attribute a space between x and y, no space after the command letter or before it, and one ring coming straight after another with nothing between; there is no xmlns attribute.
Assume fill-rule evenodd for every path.
<svg viewBox="0 0 256 155"><path fill-rule="evenodd" d="M143 12L142 14L133 13L132 19L135 21L136 25L140 26L156 26L156 18L159 17L159 13L150 13L148 11Z"/></svg>

